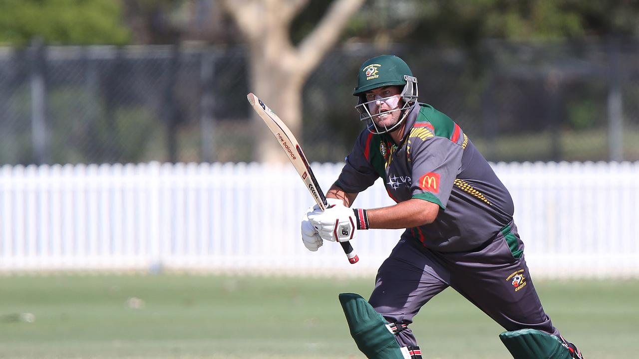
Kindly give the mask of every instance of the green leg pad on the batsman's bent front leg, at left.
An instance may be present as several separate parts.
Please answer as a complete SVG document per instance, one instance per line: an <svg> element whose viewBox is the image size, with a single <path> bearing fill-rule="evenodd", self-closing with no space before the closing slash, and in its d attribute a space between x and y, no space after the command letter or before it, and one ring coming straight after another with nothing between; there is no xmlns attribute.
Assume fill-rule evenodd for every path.
<svg viewBox="0 0 639 359"><path fill-rule="evenodd" d="M344 315L357 348L369 359L404 359L387 321L359 294L340 293Z"/></svg>

